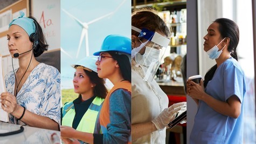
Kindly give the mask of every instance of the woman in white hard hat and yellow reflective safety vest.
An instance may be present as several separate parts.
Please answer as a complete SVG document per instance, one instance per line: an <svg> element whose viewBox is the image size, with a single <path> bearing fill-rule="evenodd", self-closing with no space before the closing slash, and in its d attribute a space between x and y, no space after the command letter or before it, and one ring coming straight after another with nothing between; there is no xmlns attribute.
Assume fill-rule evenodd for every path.
<svg viewBox="0 0 256 144"><path fill-rule="evenodd" d="M98 76L96 61L96 56L88 56L72 65L76 69L74 92L79 97L63 106L61 125L73 127L75 132L101 133L99 115L108 91ZM65 130L61 128L61 133L70 133Z"/></svg>

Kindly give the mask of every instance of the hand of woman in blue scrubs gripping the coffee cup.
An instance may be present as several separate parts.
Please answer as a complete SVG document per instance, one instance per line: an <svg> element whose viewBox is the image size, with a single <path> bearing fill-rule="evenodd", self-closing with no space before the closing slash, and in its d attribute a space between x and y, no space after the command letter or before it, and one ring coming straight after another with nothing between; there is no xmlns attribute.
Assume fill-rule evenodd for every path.
<svg viewBox="0 0 256 144"><path fill-rule="evenodd" d="M203 80L200 81L200 85L191 80L187 81L186 82L186 93L191 98L202 99L202 96L205 93Z"/></svg>

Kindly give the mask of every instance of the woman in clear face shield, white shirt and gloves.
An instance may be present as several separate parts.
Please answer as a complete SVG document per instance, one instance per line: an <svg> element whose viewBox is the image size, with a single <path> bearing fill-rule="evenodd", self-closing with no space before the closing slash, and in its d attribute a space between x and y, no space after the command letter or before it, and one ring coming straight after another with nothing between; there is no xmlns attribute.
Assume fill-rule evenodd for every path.
<svg viewBox="0 0 256 144"><path fill-rule="evenodd" d="M169 29L153 10L132 14L132 142L165 143L165 127L186 103L168 107L168 97L154 80L170 40Z"/></svg>

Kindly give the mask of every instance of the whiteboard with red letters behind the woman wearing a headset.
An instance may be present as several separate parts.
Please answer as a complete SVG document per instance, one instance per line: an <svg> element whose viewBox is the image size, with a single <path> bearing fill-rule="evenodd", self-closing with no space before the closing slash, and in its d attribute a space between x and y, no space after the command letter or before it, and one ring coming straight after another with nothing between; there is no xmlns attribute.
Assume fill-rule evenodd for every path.
<svg viewBox="0 0 256 144"><path fill-rule="evenodd" d="M43 29L49 50L60 48L60 0L32 0L31 14Z"/></svg>

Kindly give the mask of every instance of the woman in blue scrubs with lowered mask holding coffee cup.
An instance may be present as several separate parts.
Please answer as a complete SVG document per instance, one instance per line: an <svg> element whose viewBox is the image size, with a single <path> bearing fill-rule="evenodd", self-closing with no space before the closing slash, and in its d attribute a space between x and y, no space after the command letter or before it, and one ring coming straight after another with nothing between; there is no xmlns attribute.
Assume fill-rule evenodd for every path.
<svg viewBox="0 0 256 144"><path fill-rule="evenodd" d="M204 51L217 64L200 85L186 84L188 95L198 104L190 143L243 143L246 84L237 61L239 28L230 19L216 19L204 40Z"/></svg>

